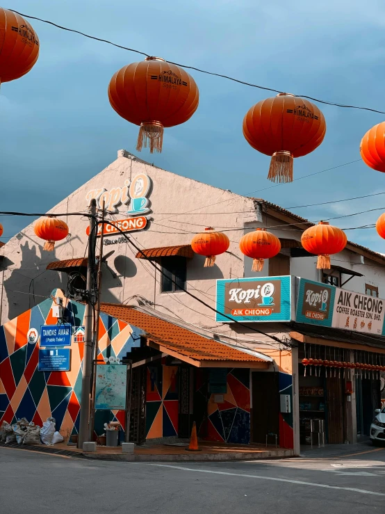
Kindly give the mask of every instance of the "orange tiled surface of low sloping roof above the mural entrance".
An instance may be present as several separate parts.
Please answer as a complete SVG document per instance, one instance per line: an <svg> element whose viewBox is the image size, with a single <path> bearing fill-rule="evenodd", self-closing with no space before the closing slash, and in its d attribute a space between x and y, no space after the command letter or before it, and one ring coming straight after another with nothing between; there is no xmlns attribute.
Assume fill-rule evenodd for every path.
<svg viewBox="0 0 385 514"><path fill-rule="evenodd" d="M100 308L102 312L110 314L110 316L141 328L151 341L162 348L178 353L181 357L184 356L190 360L197 362L223 362L224 366L226 362L244 362L248 364L247 367L256 362L265 362L267 364L268 360L270 360L269 358L264 360L254 355L249 355L241 350L215 341L215 339L204 337L169 321L140 312L128 305L102 303Z"/></svg>

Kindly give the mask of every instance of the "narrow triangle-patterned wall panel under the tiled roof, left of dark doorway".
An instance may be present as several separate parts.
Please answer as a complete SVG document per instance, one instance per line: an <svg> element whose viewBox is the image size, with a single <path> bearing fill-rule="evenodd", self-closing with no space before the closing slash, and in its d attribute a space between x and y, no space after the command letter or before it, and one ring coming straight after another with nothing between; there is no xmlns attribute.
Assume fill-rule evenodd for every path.
<svg viewBox="0 0 385 514"><path fill-rule="evenodd" d="M149 366L146 388L146 438L178 436L177 366Z"/></svg>

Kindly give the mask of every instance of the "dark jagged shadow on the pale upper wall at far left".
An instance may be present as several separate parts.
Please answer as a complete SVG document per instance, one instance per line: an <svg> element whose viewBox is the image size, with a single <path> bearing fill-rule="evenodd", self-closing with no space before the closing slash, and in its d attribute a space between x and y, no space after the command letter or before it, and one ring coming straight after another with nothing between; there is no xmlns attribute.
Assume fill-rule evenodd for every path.
<svg viewBox="0 0 385 514"><path fill-rule="evenodd" d="M30 246L30 244L29 241L26 241L25 244L19 246L19 250L15 252L15 257L16 254L22 254L20 264L17 269L10 266L10 276L4 280L3 292L4 297L6 296L8 300L8 312L3 298L1 323L22 314L22 312L42 302L44 298L49 297L53 289L63 289L65 285L60 273L46 270L49 262L57 260L56 251L46 252L41 250L42 257L39 257L37 254L38 247L34 244ZM42 298L43 296L44 298Z"/></svg>

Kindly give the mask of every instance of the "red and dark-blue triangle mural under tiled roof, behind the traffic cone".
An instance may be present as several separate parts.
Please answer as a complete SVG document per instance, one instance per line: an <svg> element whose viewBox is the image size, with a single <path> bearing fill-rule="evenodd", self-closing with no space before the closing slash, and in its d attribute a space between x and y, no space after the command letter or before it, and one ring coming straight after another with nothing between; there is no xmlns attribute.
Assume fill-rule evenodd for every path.
<svg viewBox="0 0 385 514"><path fill-rule="evenodd" d="M209 441L249 444L249 387L249 369L228 369L224 401L215 403L216 395L208 394L208 371L197 369L194 412L199 436Z"/></svg>

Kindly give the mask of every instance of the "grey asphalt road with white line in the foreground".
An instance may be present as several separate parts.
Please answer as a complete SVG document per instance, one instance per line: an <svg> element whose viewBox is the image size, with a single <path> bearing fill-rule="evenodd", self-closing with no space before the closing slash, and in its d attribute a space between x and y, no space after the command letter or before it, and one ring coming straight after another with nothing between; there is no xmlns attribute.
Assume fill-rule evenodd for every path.
<svg viewBox="0 0 385 514"><path fill-rule="evenodd" d="M0 449L1 512L13 514L385 513L385 448L243 463L122 463Z"/></svg>

